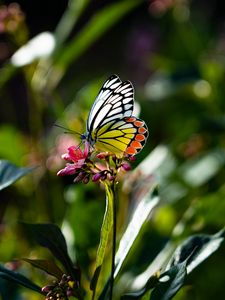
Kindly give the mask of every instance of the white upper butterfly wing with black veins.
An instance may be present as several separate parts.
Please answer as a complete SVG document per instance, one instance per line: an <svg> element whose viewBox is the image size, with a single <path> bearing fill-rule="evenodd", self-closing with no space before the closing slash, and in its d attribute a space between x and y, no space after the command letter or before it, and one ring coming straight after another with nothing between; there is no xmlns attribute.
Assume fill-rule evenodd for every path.
<svg viewBox="0 0 225 300"><path fill-rule="evenodd" d="M112 121L130 117L133 112L134 89L129 81L112 75L103 84L87 120L87 138L94 144L98 129Z"/></svg>

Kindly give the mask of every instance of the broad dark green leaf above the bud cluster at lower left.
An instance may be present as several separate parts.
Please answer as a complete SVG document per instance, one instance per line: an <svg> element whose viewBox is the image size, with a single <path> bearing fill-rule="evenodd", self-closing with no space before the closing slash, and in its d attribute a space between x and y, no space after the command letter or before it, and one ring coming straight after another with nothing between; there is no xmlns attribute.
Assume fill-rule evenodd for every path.
<svg viewBox="0 0 225 300"><path fill-rule="evenodd" d="M78 279L78 274L68 255L66 241L60 228L54 224L23 224L36 242L48 248L62 263L69 275L74 279Z"/></svg>

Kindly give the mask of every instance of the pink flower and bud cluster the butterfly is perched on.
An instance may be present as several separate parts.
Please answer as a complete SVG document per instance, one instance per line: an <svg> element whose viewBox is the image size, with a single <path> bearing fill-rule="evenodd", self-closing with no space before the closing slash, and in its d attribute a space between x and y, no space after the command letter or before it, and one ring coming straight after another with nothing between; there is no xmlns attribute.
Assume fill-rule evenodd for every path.
<svg viewBox="0 0 225 300"><path fill-rule="evenodd" d="M129 171L131 169L128 162L114 154L104 152L93 155L88 142L82 150L79 146L71 146L68 152L62 155L67 161L66 167L60 170L57 175L74 175L74 182L88 183L109 180L113 181L120 169Z"/></svg>

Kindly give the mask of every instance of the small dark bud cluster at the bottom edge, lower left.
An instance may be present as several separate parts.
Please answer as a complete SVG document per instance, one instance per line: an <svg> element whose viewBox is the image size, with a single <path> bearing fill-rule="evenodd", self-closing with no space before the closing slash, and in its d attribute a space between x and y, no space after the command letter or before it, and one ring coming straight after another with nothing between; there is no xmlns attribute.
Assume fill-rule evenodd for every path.
<svg viewBox="0 0 225 300"><path fill-rule="evenodd" d="M60 281L54 281L52 285L46 285L42 288L42 292L46 294L45 300L68 300L74 296L77 283L71 276L63 274Z"/></svg>

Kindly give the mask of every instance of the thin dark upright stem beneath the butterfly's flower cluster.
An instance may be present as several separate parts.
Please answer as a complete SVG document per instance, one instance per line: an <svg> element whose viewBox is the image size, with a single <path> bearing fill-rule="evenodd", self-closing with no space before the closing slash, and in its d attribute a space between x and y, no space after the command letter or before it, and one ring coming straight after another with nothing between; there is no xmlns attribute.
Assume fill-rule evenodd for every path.
<svg viewBox="0 0 225 300"><path fill-rule="evenodd" d="M115 197L115 182L112 184L112 194L113 194L113 236L112 236L112 264L111 264L111 276L110 276L110 290L109 299L113 298L113 285L114 285L114 271L115 271L115 255L116 255L116 197Z"/></svg>

